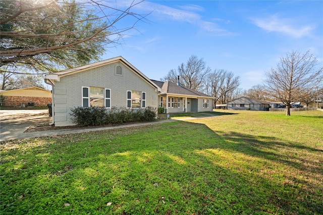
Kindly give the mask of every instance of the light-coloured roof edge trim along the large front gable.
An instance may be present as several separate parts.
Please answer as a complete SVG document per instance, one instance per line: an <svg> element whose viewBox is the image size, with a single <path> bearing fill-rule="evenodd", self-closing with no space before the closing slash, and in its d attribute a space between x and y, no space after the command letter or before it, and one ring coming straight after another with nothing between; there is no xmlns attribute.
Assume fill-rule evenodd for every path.
<svg viewBox="0 0 323 215"><path fill-rule="evenodd" d="M83 71L86 71L86 70L89 70L89 69L94 69L96 67L101 67L101 66L116 63L116 62L123 63L130 70L132 70L134 73L136 73L139 77L141 77L146 82L148 82L149 84L151 84L152 86L157 88L158 91L160 91L160 88L154 82L152 82L147 76L145 76L143 73L141 73L136 67L134 67L132 64L130 64L126 59L124 59L121 56L111 58L111 59L107 59L107 60L104 60L104 61L95 62L95 63L92 63L92 64L87 64L87 65L84 65L84 66L81 66L81 67L76 67L76 68L73 68L73 69L63 70L63 71L56 72L56 73L50 73L50 74L45 75L44 79L45 79L46 83L54 84L55 81L60 81L61 77L64 77L64 76L67 76L67 75L72 75L72 74L75 74L75 73L83 72Z"/></svg>

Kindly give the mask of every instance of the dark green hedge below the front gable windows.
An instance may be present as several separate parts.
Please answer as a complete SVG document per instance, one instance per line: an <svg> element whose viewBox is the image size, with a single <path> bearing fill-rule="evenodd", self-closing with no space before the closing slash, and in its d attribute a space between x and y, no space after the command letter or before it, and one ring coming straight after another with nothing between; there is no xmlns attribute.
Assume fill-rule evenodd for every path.
<svg viewBox="0 0 323 215"><path fill-rule="evenodd" d="M128 109L125 107L111 109L77 107L71 110L72 122L81 126L100 126L129 122L147 122L156 118L156 108Z"/></svg>

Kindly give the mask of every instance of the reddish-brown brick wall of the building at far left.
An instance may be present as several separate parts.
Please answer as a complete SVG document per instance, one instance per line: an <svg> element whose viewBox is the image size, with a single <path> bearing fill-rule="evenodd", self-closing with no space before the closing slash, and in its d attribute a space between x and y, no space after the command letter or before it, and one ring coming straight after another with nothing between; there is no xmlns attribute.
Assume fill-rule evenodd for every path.
<svg viewBox="0 0 323 215"><path fill-rule="evenodd" d="M47 103L51 103L50 97L30 97L30 96L4 96L4 106L21 106L28 102L34 102L35 106L47 106Z"/></svg>

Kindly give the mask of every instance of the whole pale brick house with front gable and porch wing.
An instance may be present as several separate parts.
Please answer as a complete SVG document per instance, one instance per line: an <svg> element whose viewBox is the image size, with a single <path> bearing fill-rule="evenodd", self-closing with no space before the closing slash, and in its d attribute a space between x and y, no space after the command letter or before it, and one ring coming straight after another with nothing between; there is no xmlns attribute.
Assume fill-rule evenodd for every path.
<svg viewBox="0 0 323 215"><path fill-rule="evenodd" d="M51 124L55 126L74 125L70 113L77 106L158 108L160 101L166 106L167 99L167 113L209 111L212 106L211 97L171 82L164 86L152 81L121 56L47 74L44 79L52 86Z"/></svg>

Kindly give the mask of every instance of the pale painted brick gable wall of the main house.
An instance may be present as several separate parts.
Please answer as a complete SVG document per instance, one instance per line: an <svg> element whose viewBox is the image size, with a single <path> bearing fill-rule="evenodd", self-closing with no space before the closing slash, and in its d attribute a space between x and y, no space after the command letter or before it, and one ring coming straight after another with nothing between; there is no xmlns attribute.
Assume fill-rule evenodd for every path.
<svg viewBox="0 0 323 215"><path fill-rule="evenodd" d="M115 66L122 66L123 76L115 75ZM127 90L146 92L146 106L157 108L155 87L147 83L126 65L112 63L60 78L55 82L55 125L73 125L70 110L82 105L83 87L111 89L111 106L127 106ZM64 110L67 110L66 112Z"/></svg>

